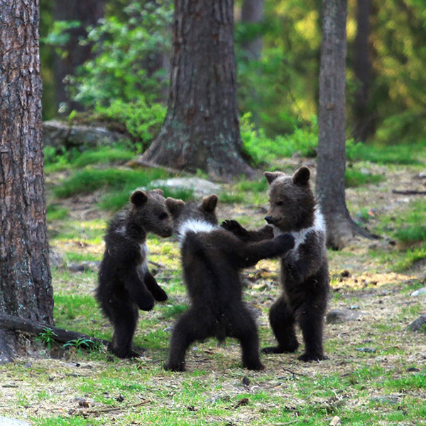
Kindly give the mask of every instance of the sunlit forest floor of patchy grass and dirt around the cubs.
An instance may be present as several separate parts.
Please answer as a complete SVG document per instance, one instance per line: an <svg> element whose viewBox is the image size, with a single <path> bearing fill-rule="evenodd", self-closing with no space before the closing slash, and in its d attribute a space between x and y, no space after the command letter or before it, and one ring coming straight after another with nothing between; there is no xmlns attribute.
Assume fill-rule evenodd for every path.
<svg viewBox="0 0 426 426"><path fill-rule="evenodd" d="M313 160L280 160L275 167L290 173L302 163L315 176ZM263 355L265 370L247 371L240 366L236 341L218 345L209 339L187 352L187 372L164 371L170 329L187 297L177 242L150 237L152 268L170 298L152 312L141 312L135 337L136 345L146 348L141 358L119 360L78 343L67 351L56 348L51 358L40 342L38 351L1 366L0 415L40 426L426 425L425 334L407 328L426 314L426 295L412 295L426 286L426 261L413 258L423 243L407 246L395 238L410 212L425 205L425 197L393 192L425 191L425 169L364 162L356 168L382 179L348 188L349 210L383 238L356 239L328 253L328 309L349 315L325 326L329 359L297 361L301 347L297 354ZM48 176L49 190L57 178ZM222 185L222 194L235 190L234 184ZM62 259L53 268L55 321L58 327L111 339L111 327L93 297L102 235L111 217L97 207L101 197L99 191L55 200L67 209L66 218L50 221L51 246ZM263 224L265 204L264 195L255 202L219 202L218 216L256 228ZM244 283L261 346L273 344L268 308L279 294L278 262L261 261L244 272Z"/></svg>

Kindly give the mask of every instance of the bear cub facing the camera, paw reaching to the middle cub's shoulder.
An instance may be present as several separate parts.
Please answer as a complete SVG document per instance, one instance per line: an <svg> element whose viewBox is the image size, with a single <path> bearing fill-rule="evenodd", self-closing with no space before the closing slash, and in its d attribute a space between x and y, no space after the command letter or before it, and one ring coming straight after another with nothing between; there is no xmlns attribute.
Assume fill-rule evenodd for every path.
<svg viewBox="0 0 426 426"><path fill-rule="evenodd" d="M238 222L222 226L243 241L256 241L290 232L295 246L281 259L283 293L271 307L269 320L278 346L263 349L266 354L294 352L299 343L295 323L302 329L305 354L301 361L324 359L322 334L329 294L329 273L325 247L324 218L310 189L310 170L302 167L291 176L265 172L270 185L270 207L265 219L271 226L246 231ZM273 235L272 235L273 231Z"/></svg>

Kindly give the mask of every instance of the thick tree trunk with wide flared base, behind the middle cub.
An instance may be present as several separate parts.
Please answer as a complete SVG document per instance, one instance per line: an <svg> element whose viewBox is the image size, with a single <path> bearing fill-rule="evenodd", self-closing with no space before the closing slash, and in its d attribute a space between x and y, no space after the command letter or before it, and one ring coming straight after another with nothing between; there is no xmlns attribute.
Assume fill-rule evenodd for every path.
<svg viewBox="0 0 426 426"><path fill-rule="evenodd" d="M233 0L175 0L168 114L142 163L251 175L241 155Z"/></svg>

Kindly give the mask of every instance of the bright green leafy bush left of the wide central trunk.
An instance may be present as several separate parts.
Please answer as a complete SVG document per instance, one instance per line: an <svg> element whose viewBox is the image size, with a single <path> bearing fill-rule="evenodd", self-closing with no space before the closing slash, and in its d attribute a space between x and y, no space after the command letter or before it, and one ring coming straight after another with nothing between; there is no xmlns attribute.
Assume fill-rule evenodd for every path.
<svg viewBox="0 0 426 426"><path fill-rule="evenodd" d="M163 67L147 71L158 54L169 55L172 20L170 1L134 1L124 8L125 18L109 16L89 31L95 56L87 61L73 81L75 100L87 107L109 107L117 99L148 104L163 97L168 84Z"/></svg>

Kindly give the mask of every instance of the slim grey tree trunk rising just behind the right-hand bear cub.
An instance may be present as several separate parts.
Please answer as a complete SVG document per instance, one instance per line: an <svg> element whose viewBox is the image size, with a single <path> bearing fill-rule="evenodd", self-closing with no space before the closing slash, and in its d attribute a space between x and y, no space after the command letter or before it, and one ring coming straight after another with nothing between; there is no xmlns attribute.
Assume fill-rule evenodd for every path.
<svg viewBox="0 0 426 426"><path fill-rule="evenodd" d="M349 216L346 167L346 0L322 1L320 111L316 191L327 222L327 242L340 249L356 233L368 235Z"/></svg>

